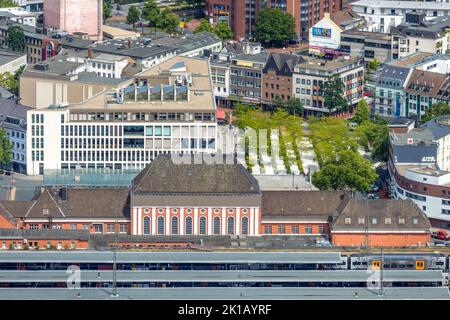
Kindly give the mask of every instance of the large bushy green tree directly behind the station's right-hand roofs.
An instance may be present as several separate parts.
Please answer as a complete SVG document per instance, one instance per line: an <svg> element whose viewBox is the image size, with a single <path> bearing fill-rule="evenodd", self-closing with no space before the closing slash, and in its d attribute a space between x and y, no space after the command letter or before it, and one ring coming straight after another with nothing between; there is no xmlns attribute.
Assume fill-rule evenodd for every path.
<svg viewBox="0 0 450 320"><path fill-rule="evenodd" d="M314 172L312 183L320 190L350 188L368 192L377 179L370 162L351 150L340 151L336 159Z"/></svg>

